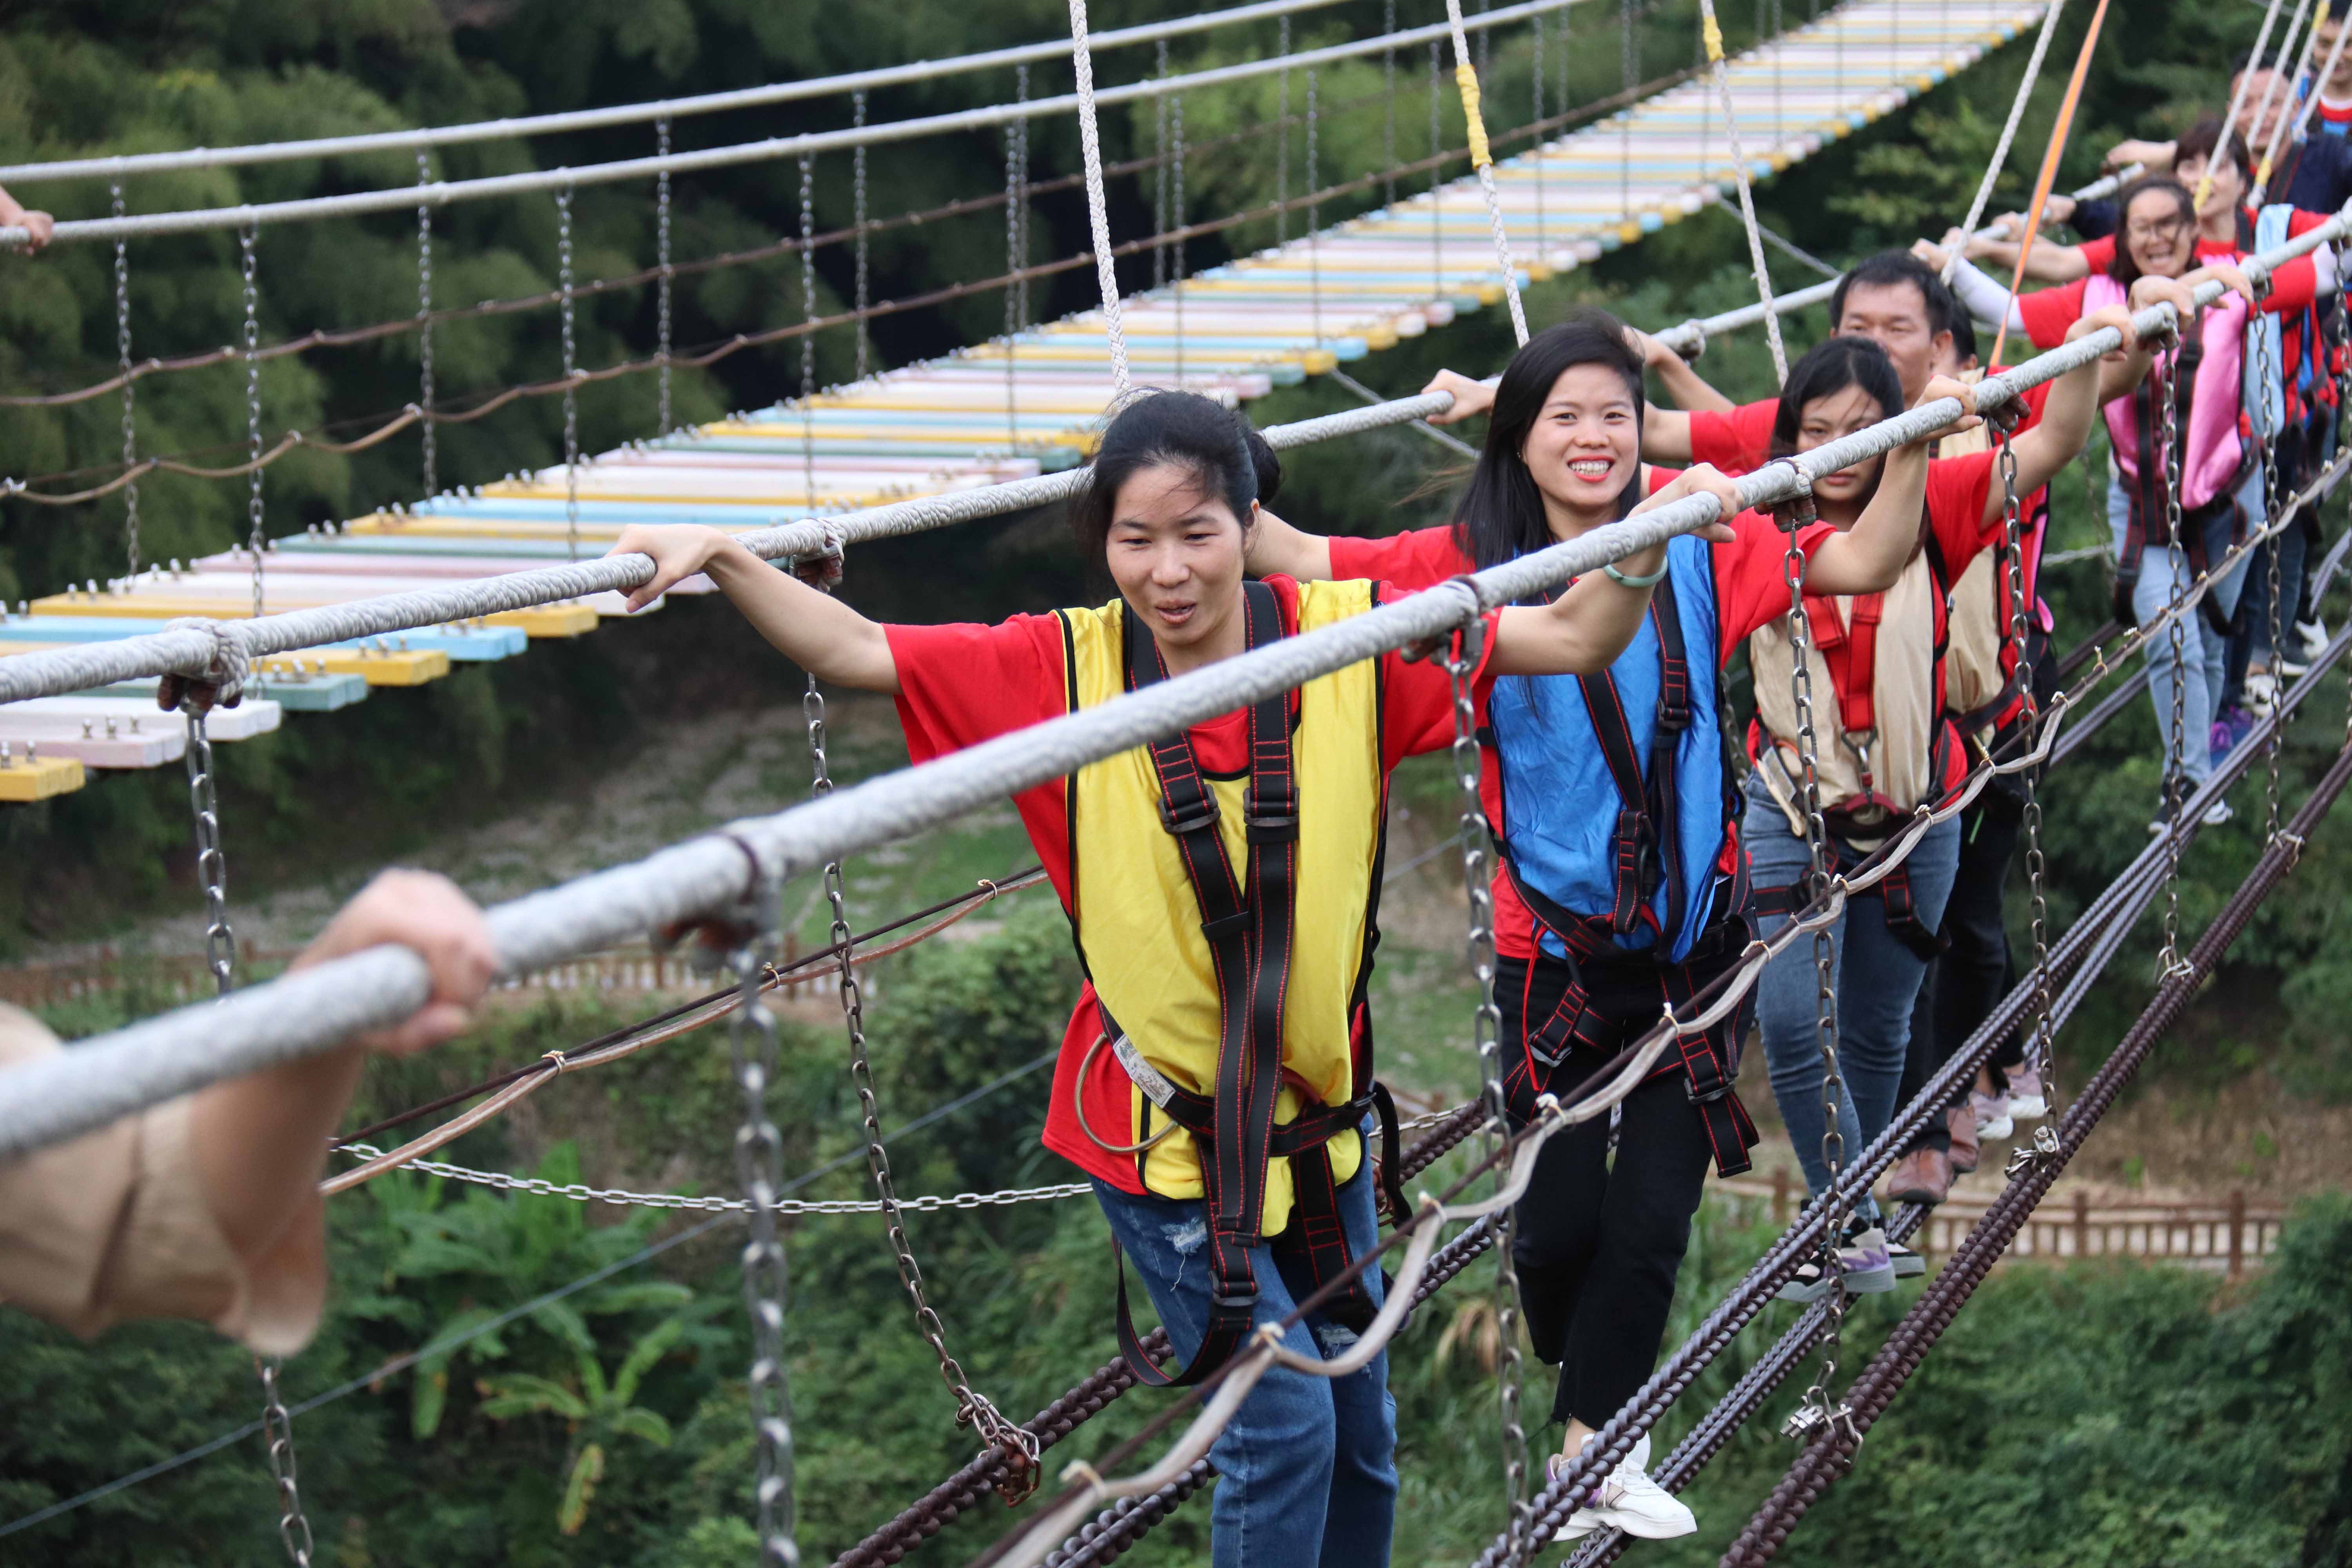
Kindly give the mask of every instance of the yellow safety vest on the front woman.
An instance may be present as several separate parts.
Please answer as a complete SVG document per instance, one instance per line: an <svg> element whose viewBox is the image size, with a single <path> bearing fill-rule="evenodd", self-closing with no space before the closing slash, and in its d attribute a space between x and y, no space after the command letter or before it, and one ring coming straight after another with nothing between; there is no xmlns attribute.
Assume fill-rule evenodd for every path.
<svg viewBox="0 0 2352 1568"><path fill-rule="evenodd" d="M1371 583L1298 585L1301 632L1367 609ZM1070 712L1120 696L1124 602L1056 614L1063 623ZM1294 1121L1310 1103L1343 1105L1359 1088L1348 1025L1371 969L1369 933L1378 898L1374 865L1388 820L1378 661L1362 661L1301 686L1291 752L1298 776L1298 884L1282 1030L1287 1084L1275 1103L1277 1124ZM1249 863L1242 825L1247 783L1247 776L1209 778L1221 811L1218 832L1235 872ZM1096 997L1169 1081L1214 1095L1216 973L1209 938L1200 929L1200 900L1176 839L1160 825L1160 780L1150 755L1138 745L1087 764L1070 783L1068 799L1070 919ZM1110 1053L1101 1060L1108 1063ZM1301 1086L1310 1098L1301 1095ZM1143 1091L1134 1091L1127 1143L1143 1143L1167 1126L1167 1117ZM1096 1131L1115 1135L1110 1128ZM1362 1164L1362 1138L1334 1138L1329 1154L1331 1178L1343 1182ZM1150 1192L1167 1199L1202 1197L1200 1152L1185 1128L1138 1159ZM1263 1232L1272 1237L1291 1213L1289 1161L1272 1161L1265 1178Z"/></svg>

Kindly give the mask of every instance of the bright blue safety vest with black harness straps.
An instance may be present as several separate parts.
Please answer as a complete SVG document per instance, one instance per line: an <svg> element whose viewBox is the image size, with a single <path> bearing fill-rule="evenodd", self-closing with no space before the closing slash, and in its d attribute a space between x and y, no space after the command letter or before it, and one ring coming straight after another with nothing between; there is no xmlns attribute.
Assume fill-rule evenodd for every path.
<svg viewBox="0 0 2352 1568"><path fill-rule="evenodd" d="M1503 863L1552 957L1604 938L1658 950L1663 936L1658 957L1682 964L1715 912L1733 802L1715 559L1689 534L1665 559L1651 614L1606 675L1505 675L1489 698Z"/></svg>

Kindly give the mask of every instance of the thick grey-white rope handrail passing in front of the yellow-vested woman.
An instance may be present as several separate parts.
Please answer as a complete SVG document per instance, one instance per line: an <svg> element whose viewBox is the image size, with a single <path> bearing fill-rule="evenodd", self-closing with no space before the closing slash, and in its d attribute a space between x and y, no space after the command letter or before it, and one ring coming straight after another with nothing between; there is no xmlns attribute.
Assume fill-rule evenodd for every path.
<svg viewBox="0 0 2352 1568"><path fill-rule="evenodd" d="M2343 214L2328 219L2300 240L2249 261L2249 268L2265 273L2291 254L2300 256L2338 240L2345 226L2347 219ZM2218 284L2206 284L2206 289L2213 296L2220 292ZM2204 289L2199 296L2204 296ZM2171 306L2157 306L2140 313L2138 329L2154 334L2169 329L2171 322ZM2023 388L2039 386L2077 364L2089 364L2119 343L2122 336L2110 327L2039 355L2013 371L1987 376L1976 388L1978 407L1997 409L2016 400ZM1397 407L1416 402L1423 404L1414 409L1416 414L1444 407L1435 400L1404 400ZM1743 505L1792 498L1811 477L1931 435L1950 425L1959 411L1957 400L1936 400L1898 418L1818 447L1790 463L1776 463L1766 473L1748 475L1736 487L1738 498ZM1348 414L1331 416L1331 421L1362 421L1367 414L1376 411L1350 409ZM1061 480L1063 475L1054 477ZM736 823L727 835L680 844L635 865L597 872L562 889L548 889L501 905L492 910L489 924L499 940L503 969L515 973L543 966L576 952L609 947L626 936L727 907L757 886L802 875L840 853L906 837L976 806L993 804L1004 795L1065 776L1098 757L1110 757L1155 736L1230 712L1249 701L1287 691L1329 670L1392 649L1425 644L1430 637L1461 625L1472 614L1517 602L1529 592L1592 571L1609 559L1686 534L1712 522L1715 512L1717 503L1712 496L1689 496L1609 524L1583 538L1378 607L1345 623L1287 637L1275 646L1188 672L1171 682L1157 682L1148 691L1120 696L1098 708L1049 719L920 769L873 778L769 818ZM767 552L793 555L826 545L818 524L795 527L800 529L797 534L793 529L764 531L769 536L764 543L771 545ZM793 536L793 548L774 548L774 536L786 534ZM809 538L809 534L818 536ZM635 585L649 571L652 562L644 557L604 557L602 562L515 576L541 581L553 576L576 583L569 588L576 595L590 590L590 583L597 590ZM489 585L482 583L480 588ZM390 602L437 597L395 595ZM350 609L341 607L341 611ZM285 623L296 616L310 616L313 623L327 618L329 625L334 618L329 611L296 611L294 616L278 616L273 621ZM449 614L433 614L433 621L442 618L449 618ZM228 628L230 632L249 630L242 623L228 623ZM179 637L188 642L198 639L195 632ZM186 651L186 658L198 661L209 656L212 639L205 639L205 644L202 651ZM106 646L96 644L96 651ZM247 651L256 649L247 644ZM7 663L31 663L35 658L54 656L16 656ZM0 668L0 677L5 677L5 668ZM82 679L78 684L92 682ZM755 856L755 865L746 863L746 851ZM1849 886L1860 886L1860 882L1849 879ZM423 997L426 978L421 959L409 950L379 947L285 976L263 987L249 987L212 1006L183 1009L181 1013L132 1025L129 1030L85 1044L71 1056L71 1065L66 1058L59 1058L14 1067L0 1074L0 1084L7 1084L12 1091L0 1103L0 1157L92 1131L120 1114L188 1093L221 1077L322 1051L329 1041L350 1032L381 1027L407 1016ZM1684 1020L1684 1027L1700 1025ZM1663 1048L1665 1037L1653 1044Z"/></svg>

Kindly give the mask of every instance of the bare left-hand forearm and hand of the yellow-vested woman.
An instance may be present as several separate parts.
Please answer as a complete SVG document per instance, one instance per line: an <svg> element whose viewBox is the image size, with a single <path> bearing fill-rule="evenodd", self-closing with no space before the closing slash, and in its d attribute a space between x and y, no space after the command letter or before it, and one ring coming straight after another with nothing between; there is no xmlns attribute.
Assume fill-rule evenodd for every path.
<svg viewBox="0 0 2352 1568"><path fill-rule="evenodd" d="M828 592L779 571L717 529L630 524L612 555L652 555L654 578L628 595L644 609L696 571L708 571L743 618L802 670L835 686L898 693L898 661L880 621L868 621Z"/></svg>

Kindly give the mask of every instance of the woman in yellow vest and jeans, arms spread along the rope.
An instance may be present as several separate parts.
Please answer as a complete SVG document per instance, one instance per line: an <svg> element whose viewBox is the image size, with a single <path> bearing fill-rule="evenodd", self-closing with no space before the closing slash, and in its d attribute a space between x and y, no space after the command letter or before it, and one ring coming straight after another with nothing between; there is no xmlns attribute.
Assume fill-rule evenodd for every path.
<svg viewBox="0 0 2352 1568"><path fill-rule="evenodd" d="M708 571L797 665L891 693L922 764L1378 604L1371 583L1244 581L1279 475L1235 411L1136 400L1073 508L1120 597L1002 625L877 625L715 529L630 527L614 548L654 557L633 604ZM1672 494L1698 489L1731 496L1712 470ZM1606 670L1658 564L1644 550L1550 607L1491 616L1479 686ZM1127 1331L1145 1382L1204 1375L1378 1237L1364 987L1388 773L1451 741L1444 670L1385 654L1014 797L1087 971L1044 1143L1094 1178L1174 1338L1181 1373ZM1371 1269L1282 1340L1336 1359L1381 1295ZM1385 1356L1341 1378L1268 1371L1209 1450L1216 1568L1385 1563L1392 1450Z"/></svg>

